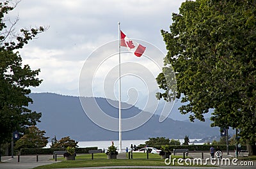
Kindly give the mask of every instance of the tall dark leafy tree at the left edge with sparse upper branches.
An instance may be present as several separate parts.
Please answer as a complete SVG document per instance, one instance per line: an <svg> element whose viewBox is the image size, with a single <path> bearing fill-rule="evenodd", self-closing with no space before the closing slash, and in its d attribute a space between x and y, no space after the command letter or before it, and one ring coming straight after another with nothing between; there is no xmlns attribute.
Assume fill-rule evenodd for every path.
<svg viewBox="0 0 256 169"><path fill-rule="evenodd" d="M13 29L17 20L6 24L8 19L4 18L14 7L8 1L0 3L0 145L11 140L13 131L24 132L40 122L41 117L41 113L28 109L28 104L33 103L28 96L29 87L42 82L36 78L40 70L31 70L27 64L22 66L17 50L45 29L21 29L19 35Z"/></svg>

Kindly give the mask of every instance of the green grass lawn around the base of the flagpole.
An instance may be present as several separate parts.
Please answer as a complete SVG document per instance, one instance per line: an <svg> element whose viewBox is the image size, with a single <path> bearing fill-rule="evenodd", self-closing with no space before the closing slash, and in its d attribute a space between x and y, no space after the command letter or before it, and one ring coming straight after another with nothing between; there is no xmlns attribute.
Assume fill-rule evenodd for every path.
<svg viewBox="0 0 256 169"><path fill-rule="evenodd" d="M66 161L64 158L58 158L59 163L51 165L38 166L36 169L44 168L79 168L79 167L93 167L93 166L166 166L164 159L161 159L158 154L133 153L133 159L107 159L106 154L99 153L84 154L76 156L75 161ZM182 158L182 156L172 156L172 158ZM178 166L177 164L175 164Z"/></svg>

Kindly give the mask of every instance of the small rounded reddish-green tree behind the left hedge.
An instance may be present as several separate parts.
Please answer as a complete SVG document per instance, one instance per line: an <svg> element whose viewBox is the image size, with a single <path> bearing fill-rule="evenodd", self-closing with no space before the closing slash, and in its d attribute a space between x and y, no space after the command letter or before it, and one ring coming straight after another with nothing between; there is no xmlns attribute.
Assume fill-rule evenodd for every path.
<svg viewBox="0 0 256 169"><path fill-rule="evenodd" d="M36 126L30 126L25 135L15 142L15 149L43 148L47 145L49 138L44 135L45 131L40 131Z"/></svg>

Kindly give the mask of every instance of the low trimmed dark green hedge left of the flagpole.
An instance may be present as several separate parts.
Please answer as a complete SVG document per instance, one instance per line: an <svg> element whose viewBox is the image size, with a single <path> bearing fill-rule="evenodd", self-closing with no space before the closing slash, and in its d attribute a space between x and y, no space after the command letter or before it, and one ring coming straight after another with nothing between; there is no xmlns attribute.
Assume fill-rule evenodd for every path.
<svg viewBox="0 0 256 169"><path fill-rule="evenodd" d="M97 150L98 147L76 148L76 153L88 153L90 150ZM62 148L44 148L44 149L20 149L20 155L33 154L53 154L54 151L66 151Z"/></svg>

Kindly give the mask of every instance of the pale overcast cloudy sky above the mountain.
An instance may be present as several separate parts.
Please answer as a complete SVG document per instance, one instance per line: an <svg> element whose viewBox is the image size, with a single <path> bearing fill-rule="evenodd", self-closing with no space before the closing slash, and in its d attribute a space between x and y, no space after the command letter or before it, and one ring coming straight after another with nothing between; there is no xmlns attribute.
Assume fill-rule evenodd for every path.
<svg viewBox="0 0 256 169"><path fill-rule="evenodd" d="M20 1L15 10L8 15L13 19L19 17L16 29L49 26L45 33L29 41L28 45L19 50L24 64L29 64L32 69L40 68L41 70L39 78L44 81L39 87L33 88L32 92L54 92L79 96L79 77L83 77L87 80L86 82L89 77L93 77L95 81L89 80L92 87L83 86L85 90L83 96L92 96L91 91L86 91L92 88L95 91L93 96L116 99L118 47L113 44L118 44L116 40L118 40L118 22L120 22L122 31L129 38L138 39L141 45L147 47L145 55L140 58L130 57L132 54L122 54L122 62L132 63L130 66L127 64L126 67L124 65L122 71L129 73L129 70L134 70L131 72L131 77L127 76L122 80L122 87L124 87L122 101L131 99L127 96L129 94L145 98L151 92L154 93L155 88L150 85L157 86L154 78L161 72L163 57L166 54L160 31L161 29L169 31L172 13L179 12L179 6L183 1ZM113 50L111 57L109 54L102 54L102 51L107 52L102 45L108 51ZM122 51L125 50L122 48ZM159 51L156 52L156 50L163 54L157 53ZM101 53L97 57L95 52L99 51ZM91 67L98 69L92 71ZM84 68L86 73L81 73ZM138 76L136 70L140 72ZM143 77L143 73L153 75L153 80L152 77ZM106 78L113 78L113 82L104 82ZM152 80L152 83L147 80ZM150 89L144 91L145 86L146 88L149 86ZM138 89L129 90L133 87ZM109 90L113 91L110 95L105 93ZM136 101L138 100L130 100L131 103Z"/></svg>

